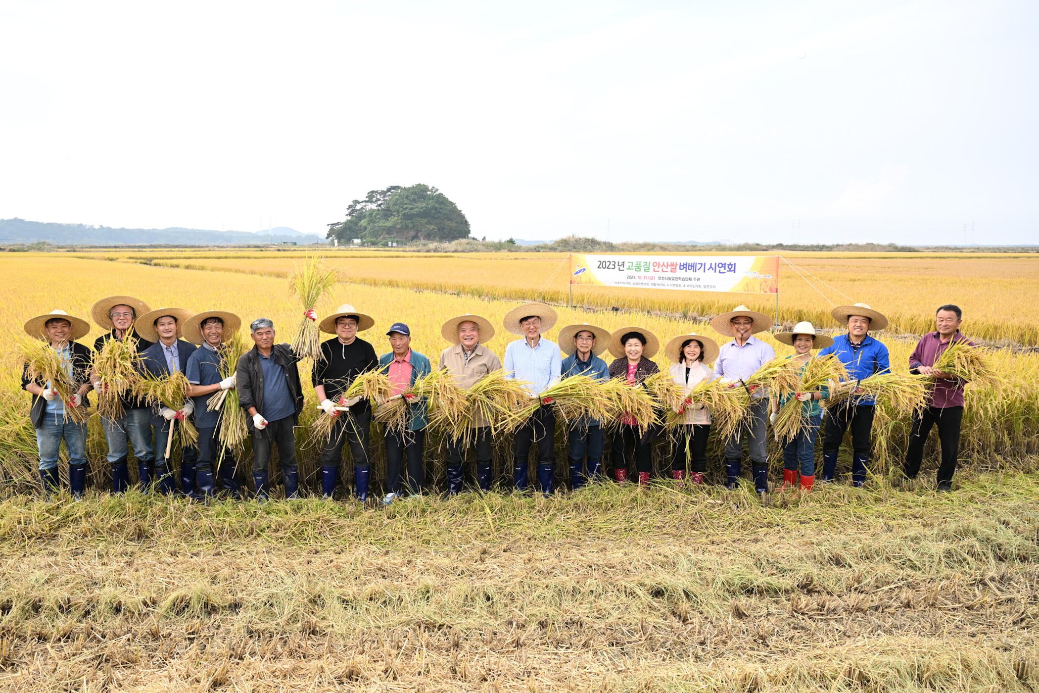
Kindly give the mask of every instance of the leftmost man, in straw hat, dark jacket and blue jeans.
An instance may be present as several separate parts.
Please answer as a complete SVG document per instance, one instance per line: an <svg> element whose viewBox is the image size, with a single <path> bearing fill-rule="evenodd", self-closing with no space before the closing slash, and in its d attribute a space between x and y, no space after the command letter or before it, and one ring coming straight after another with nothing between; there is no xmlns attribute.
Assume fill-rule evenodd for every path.
<svg viewBox="0 0 1039 693"><path fill-rule="evenodd" d="M86 489L86 419L74 417L71 410L89 406L86 393L90 391L92 352L89 347L76 340L86 337L90 325L86 320L74 318L64 311L52 311L26 322L25 331L30 337L43 340L41 348L51 348L58 353L73 391L68 395L69 399L62 401L53 382L30 378L28 364L22 370L22 389L32 394L29 419L36 429L39 480L48 496L60 486L58 452L61 441L64 439L65 450L69 452L69 486L73 497L79 500Z"/></svg>

